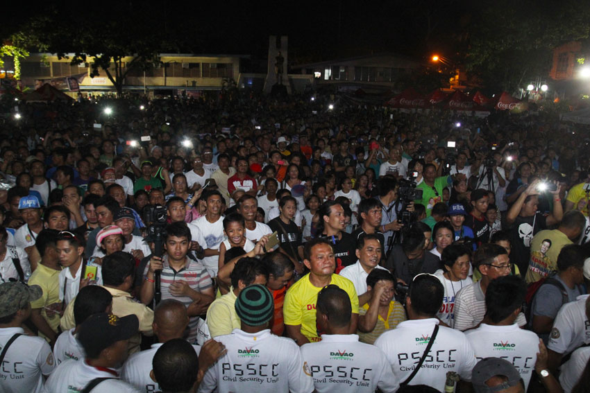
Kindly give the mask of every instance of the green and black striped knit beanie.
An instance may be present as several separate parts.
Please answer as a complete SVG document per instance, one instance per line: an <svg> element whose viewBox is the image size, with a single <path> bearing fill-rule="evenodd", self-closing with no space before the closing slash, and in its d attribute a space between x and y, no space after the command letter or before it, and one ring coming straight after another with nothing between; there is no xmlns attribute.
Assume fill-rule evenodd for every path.
<svg viewBox="0 0 590 393"><path fill-rule="evenodd" d="M274 314L271 292L260 284L247 286L237 295L235 312L248 326L260 326L269 322Z"/></svg>

